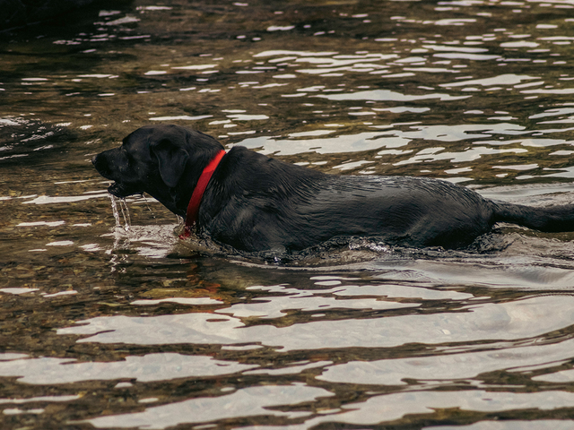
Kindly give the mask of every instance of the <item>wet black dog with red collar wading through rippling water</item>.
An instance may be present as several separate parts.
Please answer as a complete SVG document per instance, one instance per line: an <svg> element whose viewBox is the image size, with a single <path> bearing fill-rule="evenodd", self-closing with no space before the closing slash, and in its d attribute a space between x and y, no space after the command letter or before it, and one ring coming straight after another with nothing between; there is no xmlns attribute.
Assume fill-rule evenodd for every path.
<svg viewBox="0 0 574 430"><path fill-rule="evenodd" d="M216 166L218 154L224 157ZM213 137L178 125L142 127L92 163L115 181L109 193L149 193L170 211L188 213L198 232L245 251L297 251L338 236L457 248L500 221L574 230L574 206L493 202L434 179L326 175L241 146L225 154ZM204 169L214 169L211 179Z"/></svg>

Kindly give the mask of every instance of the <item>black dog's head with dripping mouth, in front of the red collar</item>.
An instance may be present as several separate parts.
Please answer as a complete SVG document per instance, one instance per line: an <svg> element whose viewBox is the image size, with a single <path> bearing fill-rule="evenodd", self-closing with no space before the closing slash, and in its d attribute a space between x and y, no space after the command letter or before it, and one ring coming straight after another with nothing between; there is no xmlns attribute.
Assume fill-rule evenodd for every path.
<svg viewBox="0 0 574 430"><path fill-rule="evenodd" d="M220 142L204 133L178 125L148 125L91 162L101 176L114 181L109 193L117 197L149 193L184 216L198 177L222 149Z"/></svg>

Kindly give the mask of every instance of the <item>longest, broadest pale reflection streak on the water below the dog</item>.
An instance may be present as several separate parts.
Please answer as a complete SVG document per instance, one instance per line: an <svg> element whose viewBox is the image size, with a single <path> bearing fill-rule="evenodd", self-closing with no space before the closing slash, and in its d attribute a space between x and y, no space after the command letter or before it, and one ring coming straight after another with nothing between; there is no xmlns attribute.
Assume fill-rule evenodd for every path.
<svg viewBox="0 0 574 430"><path fill-rule="evenodd" d="M326 294L326 291L322 291ZM337 297L340 298L340 297ZM261 344L283 351L319 348L392 348L409 343L442 344L448 342L472 342L487 339L504 341L535 338L548 331L560 330L570 324L572 318L570 298L539 297L500 305L456 306L456 312L441 314L420 314L413 311L394 313L393 318L358 318L331 321L333 309L348 311L387 310L404 306L387 305L373 309L369 300L366 303L352 303L339 300L340 305L333 307L303 307L289 304L287 309L302 313L321 311L321 314L309 314L318 321L276 327L269 324L245 326L244 318L277 318L276 315L252 314L248 309L239 309L240 317L230 317L227 309L213 314L177 314L153 317L97 317L78 322L81 327L58 330L58 334L91 335L79 342L125 343L139 345L162 344ZM262 298L259 298L262 299ZM574 300L574 298L573 298ZM352 299L351 302L365 302L364 299ZM306 305L307 300L305 301ZM311 301L312 302L312 301ZM411 304L406 307L419 307ZM257 307L256 307L257 309ZM285 312L287 309L282 311ZM233 309L230 309L233 312ZM352 314L350 312L349 314ZM379 312L381 316L384 313ZM554 318L549 321L549 317ZM282 315L283 316L283 315ZM358 316L358 315L357 315ZM325 317L325 318L324 318ZM564 323L567 322L567 323ZM535 325L533 325L535 323ZM365 337L361 333L369 332ZM343 336L344 333L344 336ZM447 378L449 379L449 378Z"/></svg>

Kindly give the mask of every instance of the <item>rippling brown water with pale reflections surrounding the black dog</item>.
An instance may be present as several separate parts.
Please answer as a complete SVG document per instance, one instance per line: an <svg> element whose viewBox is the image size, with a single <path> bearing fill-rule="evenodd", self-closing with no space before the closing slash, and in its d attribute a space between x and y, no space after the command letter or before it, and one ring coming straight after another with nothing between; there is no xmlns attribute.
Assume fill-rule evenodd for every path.
<svg viewBox="0 0 574 430"><path fill-rule="evenodd" d="M574 4L109 4L0 39L0 427L566 429L574 233L289 259L90 159L172 122L340 175L572 202Z"/></svg>

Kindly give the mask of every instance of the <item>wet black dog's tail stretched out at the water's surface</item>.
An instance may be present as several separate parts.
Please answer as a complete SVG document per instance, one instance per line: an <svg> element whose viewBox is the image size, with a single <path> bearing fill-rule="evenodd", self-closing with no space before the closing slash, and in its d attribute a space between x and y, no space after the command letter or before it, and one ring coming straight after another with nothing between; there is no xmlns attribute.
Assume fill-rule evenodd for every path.
<svg viewBox="0 0 574 430"><path fill-rule="evenodd" d="M574 231L574 205L535 208L508 202L493 202L493 221L509 222L545 232Z"/></svg>

